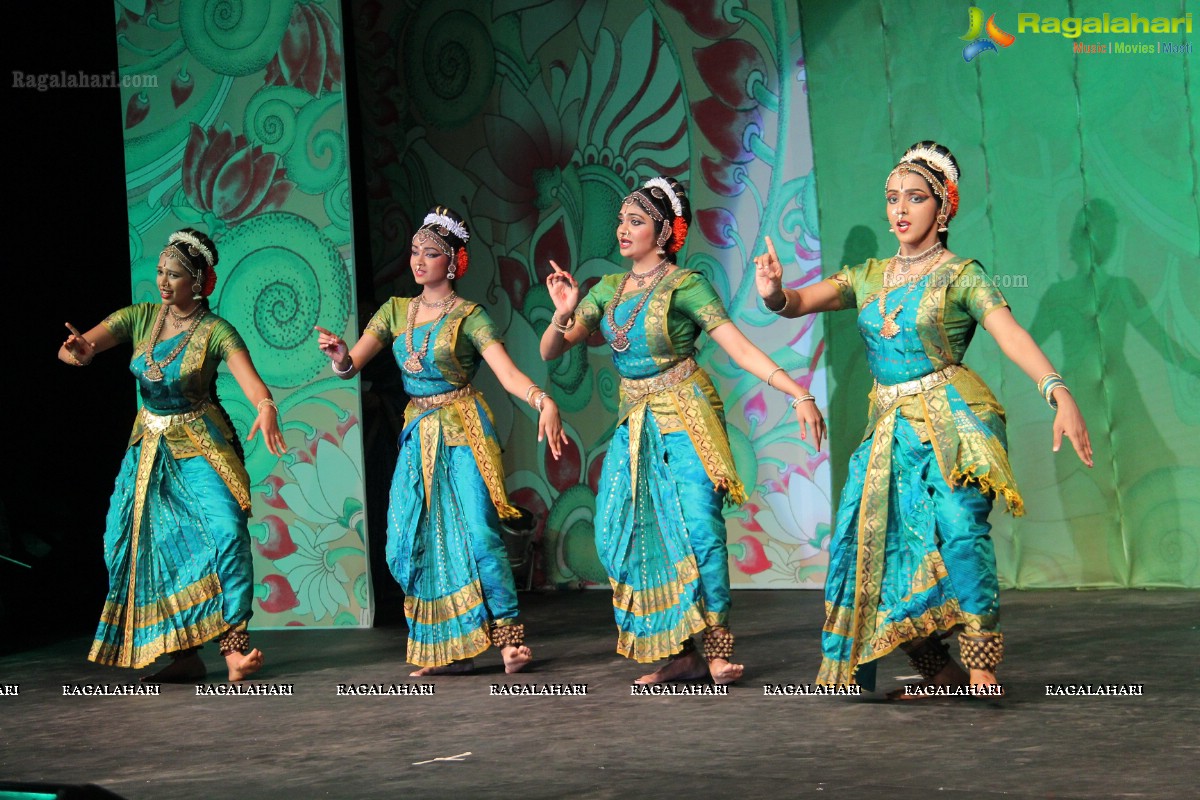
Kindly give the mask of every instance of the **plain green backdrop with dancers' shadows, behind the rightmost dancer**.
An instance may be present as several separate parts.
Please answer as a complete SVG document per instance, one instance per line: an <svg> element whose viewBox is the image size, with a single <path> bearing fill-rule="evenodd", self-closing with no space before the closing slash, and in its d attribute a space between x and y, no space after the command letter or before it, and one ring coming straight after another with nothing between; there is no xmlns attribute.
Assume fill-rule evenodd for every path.
<svg viewBox="0 0 1200 800"><path fill-rule="evenodd" d="M883 179L908 144L948 145L964 174L952 247L1010 283L1013 313L1067 378L1096 449L1093 470L1051 453L1051 411L990 337L976 339L967 362L1008 408L1028 509L992 516L1003 584L1200 585L1198 54L1074 52L1194 48L1198 36L1016 25L1018 11L1182 17L1196 4L982 4L1015 41L967 62L971 6L800 4L823 267L893 252ZM827 324L840 486L869 378L852 315Z"/></svg>

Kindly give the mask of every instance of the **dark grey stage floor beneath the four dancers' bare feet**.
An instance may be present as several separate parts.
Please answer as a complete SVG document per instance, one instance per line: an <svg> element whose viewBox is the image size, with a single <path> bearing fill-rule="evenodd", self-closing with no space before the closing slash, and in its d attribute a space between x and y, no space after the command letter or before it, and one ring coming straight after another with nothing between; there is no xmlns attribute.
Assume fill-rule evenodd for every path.
<svg viewBox="0 0 1200 800"><path fill-rule="evenodd" d="M748 668L727 697L631 697L640 670L612 652L604 591L526 595L538 663L505 681L586 682L586 697L491 696L504 681L493 654L473 676L430 680L432 696L337 696L342 682L410 680L398 627L256 634L260 682L293 684L292 697L65 697L64 684L131 675L86 663L88 642L71 640L0 660L0 684L19 685L0 696L0 780L91 782L128 800L1194 796L1198 600L1006 593L1008 697L991 702L764 696L815 678L815 591L737 593ZM888 657L881 688L910 672ZM1145 693L1048 697L1046 684Z"/></svg>

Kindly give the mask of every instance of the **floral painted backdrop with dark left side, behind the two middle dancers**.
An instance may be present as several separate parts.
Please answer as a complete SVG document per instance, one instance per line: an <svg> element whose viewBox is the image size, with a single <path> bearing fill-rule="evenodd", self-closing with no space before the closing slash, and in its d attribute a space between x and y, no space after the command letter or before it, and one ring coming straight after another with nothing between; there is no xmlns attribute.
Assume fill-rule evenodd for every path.
<svg viewBox="0 0 1200 800"><path fill-rule="evenodd" d="M532 411L481 371L509 489L539 519L535 582L607 585L595 554L596 481L617 411L602 339L545 365L550 259L587 285L625 269L620 200L665 173L689 185L683 264L824 402L821 325L770 325L745 265L764 235L820 279L805 65L785 0L355 0L374 301L412 291L409 236L434 203L472 224L460 291L482 302L516 362L547 386L571 444L559 462ZM728 513L738 587L818 587L828 561L829 462L799 440L784 397L703 338L750 501ZM376 391L372 389L372 392ZM384 403L380 403L383 405Z"/></svg>

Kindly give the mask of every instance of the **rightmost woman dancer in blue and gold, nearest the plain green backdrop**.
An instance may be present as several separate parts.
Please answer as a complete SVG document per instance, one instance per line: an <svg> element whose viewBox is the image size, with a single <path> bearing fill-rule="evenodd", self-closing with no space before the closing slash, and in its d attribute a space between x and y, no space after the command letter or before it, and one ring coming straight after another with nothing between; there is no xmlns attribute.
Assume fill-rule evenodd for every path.
<svg viewBox="0 0 1200 800"><path fill-rule="evenodd" d="M1087 427L1062 378L979 263L946 248L958 184L950 151L920 142L884 187L900 242L894 257L799 290L782 288L769 239L755 259L758 294L781 317L857 308L875 377L829 546L821 684L874 690L876 660L896 646L929 684L965 684L942 643L953 630L970 682L996 684L1004 639L988 515L997 495L1014 515L1022 506L1004 410L962 365L977 324L1057 410L1054 450L1066 435L1092 465Z"/></svg>

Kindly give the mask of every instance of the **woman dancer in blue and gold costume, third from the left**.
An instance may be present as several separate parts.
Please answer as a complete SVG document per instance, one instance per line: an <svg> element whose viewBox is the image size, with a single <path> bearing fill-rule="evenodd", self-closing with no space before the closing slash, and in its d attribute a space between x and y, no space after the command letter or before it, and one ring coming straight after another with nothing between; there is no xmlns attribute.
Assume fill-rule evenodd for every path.
<svg viewBox="0 0 1200 800"><path fill-rule="evenodd" d="M676 265L691 209L683 186L654 178L625 198L617 241L628 272L605 276L580 302L575 278L551 261L554 301L541 357L556 359L596 329L620 373L617 429L596 499L596 549L613 588L617 652L671 657L640 684L718 684L742 675L730 661L730 569L721 505L743 503L720 397L694 359L701 331L739 367L792 396L800 437L820 449L824 420L812 395L733 325L702 275ZM703 631L703 657L692 634ZM706 663L707 662L707 663Z"/></svg>

